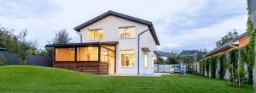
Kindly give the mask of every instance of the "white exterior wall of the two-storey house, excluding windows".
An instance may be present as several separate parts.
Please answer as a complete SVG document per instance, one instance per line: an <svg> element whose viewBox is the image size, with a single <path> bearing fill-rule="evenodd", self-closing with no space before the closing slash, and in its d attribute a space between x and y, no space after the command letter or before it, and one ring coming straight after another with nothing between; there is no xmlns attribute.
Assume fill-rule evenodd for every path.
<svg viewBox="0 0 256 93"><path fill-rule="evenodd" d="M137 36L133 39L119 39L119 27L125 26L135 26L136 34L143 32L148 29L148 25L142 25L131 20L121 19L115 16L108 16L105 19L99 20L96 23L84 27L84 29L80 30L80 34L82 35L82 42L105 42L105 41L119 41L116 50L116 74L138 74L137 70L137 57L138 57L138 49L137 49ZM100 41L90 41L88 40L88 30L91 29L102 29L103 30L103 38ZM156 50L156 44L154 42L153 36L151 36L150 31L144 33L141 37L141 47L148 47L151 52L143 52L140 47L140 74L153 74L154 68L152 64L154 63L152 57L156 57L154 55L154 50ZM120 67L120 50L133 49L135 51L135 66L134 67ZM148 53L148 68L144 68L144 53Z"/></svg>

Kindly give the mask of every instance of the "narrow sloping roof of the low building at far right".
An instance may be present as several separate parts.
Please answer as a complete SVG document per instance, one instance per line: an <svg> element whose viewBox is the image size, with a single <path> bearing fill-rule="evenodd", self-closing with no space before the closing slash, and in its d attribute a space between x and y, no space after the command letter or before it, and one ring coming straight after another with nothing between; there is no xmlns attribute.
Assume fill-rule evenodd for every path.
<svg viewBox="0 0 256 93"><path fill-rule="evenodd" d="M224 48L224 47L230 46L230 44L232 44L232 43L235 42L235 41L238 41L239 39L241 39L241 38L244 37L244 36L247 36L247 32L242 33L242 34L241 34L240 36L238 36L237 38L234 38L234 39L232 39L232 40L230 40L230 41L228 41L228 42L225 42L225 43L224 43L223 45L221 45L220 47L214 48L212 51L207 52L207 54L206 54L205 56L211 54L212 52L217 52L218 50L220 50L220 49L222 49L222 48Z"/></svg>

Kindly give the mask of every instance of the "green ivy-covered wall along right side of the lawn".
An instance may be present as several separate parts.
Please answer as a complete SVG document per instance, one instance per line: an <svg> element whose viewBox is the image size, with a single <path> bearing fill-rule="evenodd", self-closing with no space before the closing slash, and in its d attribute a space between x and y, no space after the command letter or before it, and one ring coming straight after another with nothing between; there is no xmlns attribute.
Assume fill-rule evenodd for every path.
<svg viewBox="0 0 256 93"><path fill-rule="evenodd" d="M205 57L200 60L200 72L203 76L208 76L212 78L224 79L226 70L230 72L230 79L241 79L242 82L247 82L251 84L253 77L252 69L253 66L250 66L250 61L252 57L248 57L247 53L249 52L249 46L242 47L241 49L230 49L228 52L220 52L211 57ZM239 55L240 53L240 55ZM219 63L219 64L218 64ZM247 71L244 69L244 63L248 64ZM206 71L206 73L205 73ZM216 72L217 71L217 72ZM249 79L246 79L246 74L249 75ZM218 77L217 77L218 76Z"/></svg>

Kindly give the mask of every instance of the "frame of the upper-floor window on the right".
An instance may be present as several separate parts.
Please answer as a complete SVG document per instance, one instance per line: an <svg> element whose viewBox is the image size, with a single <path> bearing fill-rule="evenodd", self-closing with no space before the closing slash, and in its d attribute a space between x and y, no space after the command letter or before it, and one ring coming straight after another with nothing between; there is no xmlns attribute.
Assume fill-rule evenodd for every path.
<svg viewBox="0 0 256 93"><path fill-rule="evenodd" d="M127 29L134 29L134 34L135 34L135 36L134 37L126 37L125 36L125 32L127 31ZM120 36L120 29L124 29L123 31L124 31L124 36L122 37L122 36ZM129 30L130 31L130 35L131 35L131 30ZM119 27L119 39L135 39L136 38L136 26L124 26L124 27Z"/></svg>

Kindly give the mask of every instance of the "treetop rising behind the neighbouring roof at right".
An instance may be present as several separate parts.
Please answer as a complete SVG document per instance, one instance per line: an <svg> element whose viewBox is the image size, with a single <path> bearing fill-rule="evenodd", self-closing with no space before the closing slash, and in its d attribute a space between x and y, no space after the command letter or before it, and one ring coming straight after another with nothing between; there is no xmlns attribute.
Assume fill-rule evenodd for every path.
<svg viewBox="0 0 256 93"><path fill-rule="evenodd" d="M227 35L221 37L221 40L216 42L216 47L222 46L225 42L231 41L232 39L235 39L238 36L238 33L236 30L233 32L229 31Z"/></svg>

